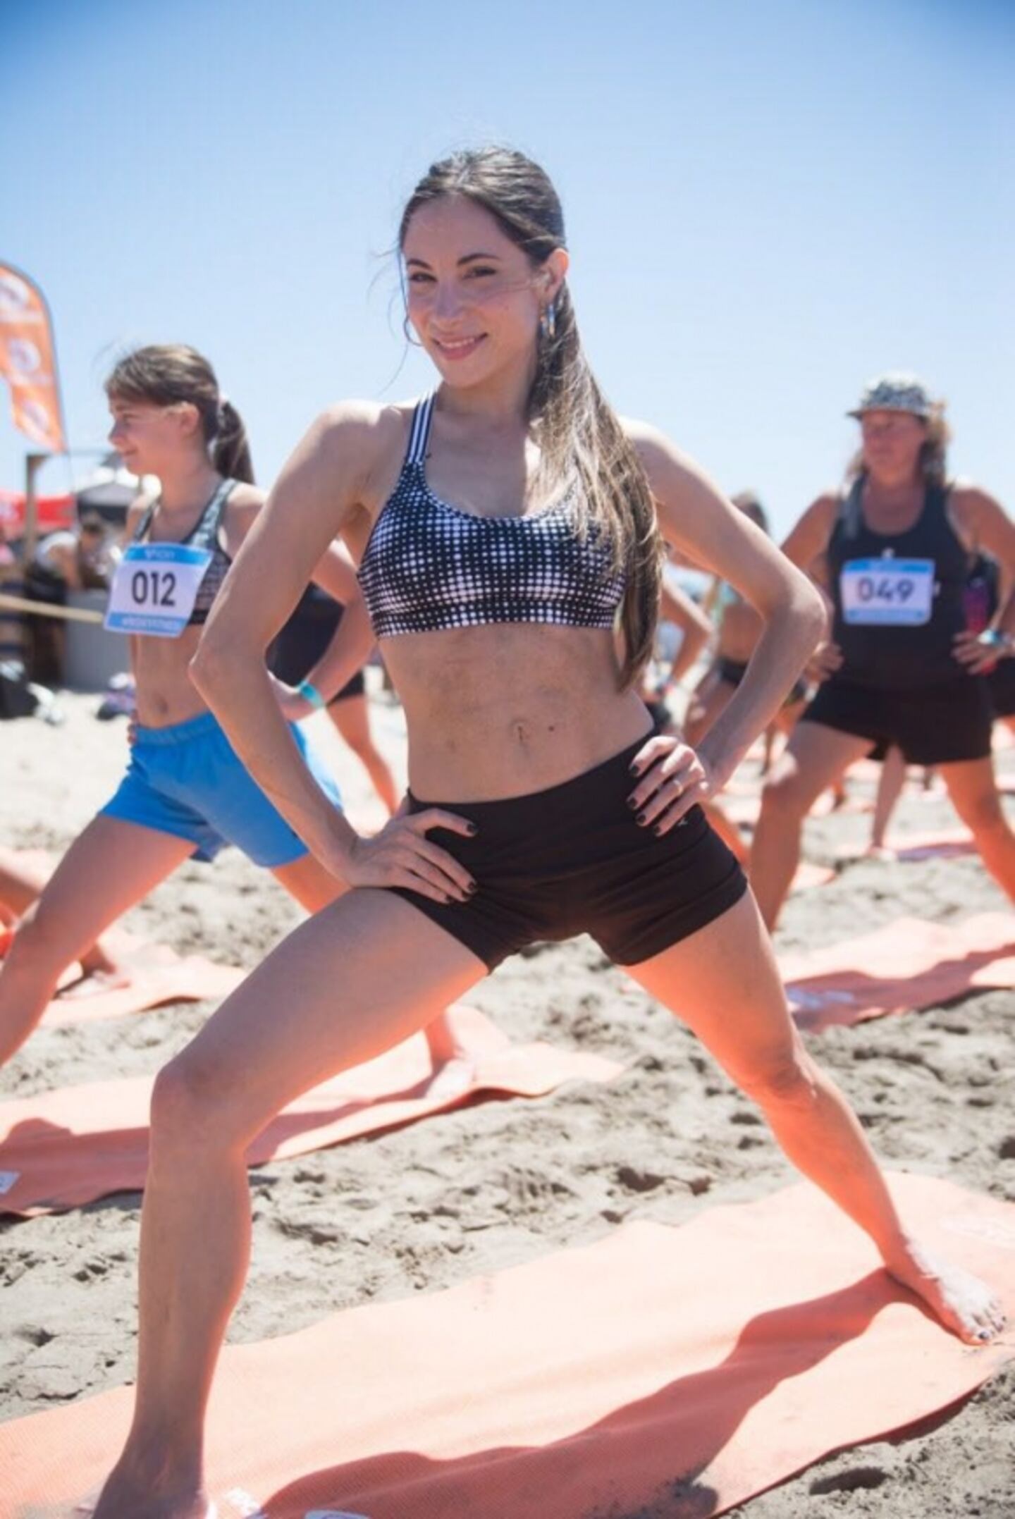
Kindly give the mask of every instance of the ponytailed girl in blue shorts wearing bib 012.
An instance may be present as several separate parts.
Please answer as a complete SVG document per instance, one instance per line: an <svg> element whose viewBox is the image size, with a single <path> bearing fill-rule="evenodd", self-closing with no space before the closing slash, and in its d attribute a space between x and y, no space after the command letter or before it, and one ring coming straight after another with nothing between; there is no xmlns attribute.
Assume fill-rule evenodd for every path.
<svg viewBox="0 0 1015 1519"><path fill-rule="evenodd" d="M105 928L184 860L213 860L225 843L266 866L307 911L343 890L251 779L190 681L208 612L261 509L239 413L191 348L140 348L106 381L109 442L128 468L158 475L158 500L128 516L125 554L108 623L131 633L137 728L120 787L64 855L27 908L0 968L0 1062L27 1039L64 969L85 955L105 984L129 968L97 958ZM311 574L334 595L359 598L356 574L325 545ZM292 693L280 691L280 699ZM305 775L331 811L340 807L327 767L293 726ZM79 990L85 990L81 987ZM439 1019L435 1063L456 1056ZM454 1072L450 1074L454 1078Z"/></svg>

